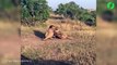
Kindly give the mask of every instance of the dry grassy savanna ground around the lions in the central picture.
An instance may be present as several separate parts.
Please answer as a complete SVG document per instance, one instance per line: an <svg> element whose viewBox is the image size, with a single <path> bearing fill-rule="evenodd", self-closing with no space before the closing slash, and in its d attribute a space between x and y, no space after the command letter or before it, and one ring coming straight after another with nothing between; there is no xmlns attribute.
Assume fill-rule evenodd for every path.
<svg viewBox="0 0 117 65"><path fill-rule="evenodd" d="M43 40L49 25L58 26L73 39ZM35 27L21 27L22 65L95 65L95 27L79 21L49 18Z"/></svg>

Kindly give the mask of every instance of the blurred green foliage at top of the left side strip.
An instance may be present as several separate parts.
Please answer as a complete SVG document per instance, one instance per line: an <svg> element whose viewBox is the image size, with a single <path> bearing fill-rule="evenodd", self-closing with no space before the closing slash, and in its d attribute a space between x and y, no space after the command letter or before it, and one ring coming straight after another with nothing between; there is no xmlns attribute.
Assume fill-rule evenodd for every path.
<svg viewBox="0 0 117 65"><path fill-rule="evenodd" d="M20 20L20 0L0 0L0 20Z"/></svg>

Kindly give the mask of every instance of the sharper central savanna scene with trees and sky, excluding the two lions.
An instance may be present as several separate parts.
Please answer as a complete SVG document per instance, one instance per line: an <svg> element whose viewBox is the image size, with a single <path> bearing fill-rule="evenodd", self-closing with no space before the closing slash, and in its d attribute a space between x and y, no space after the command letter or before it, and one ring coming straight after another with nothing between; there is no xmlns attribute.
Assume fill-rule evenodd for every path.
<svg viewBox="0 0 117 65"><path fill-rule="evenodd" d="M48 39L50 25L73 39ZM96 0L22 0L22 65L95 65Z"/></svg>

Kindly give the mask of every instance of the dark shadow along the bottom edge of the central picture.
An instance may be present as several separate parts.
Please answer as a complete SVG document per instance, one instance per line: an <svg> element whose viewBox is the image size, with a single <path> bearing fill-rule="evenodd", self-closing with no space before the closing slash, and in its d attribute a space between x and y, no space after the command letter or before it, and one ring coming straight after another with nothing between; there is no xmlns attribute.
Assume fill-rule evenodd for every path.
<svg viewBox="0 0 117 65"><path fill-rule="evenodd" d="M63 61L52 61L52 60L31 60L21 55L21 65L72 65L71 63L63 62Z"/></svg>

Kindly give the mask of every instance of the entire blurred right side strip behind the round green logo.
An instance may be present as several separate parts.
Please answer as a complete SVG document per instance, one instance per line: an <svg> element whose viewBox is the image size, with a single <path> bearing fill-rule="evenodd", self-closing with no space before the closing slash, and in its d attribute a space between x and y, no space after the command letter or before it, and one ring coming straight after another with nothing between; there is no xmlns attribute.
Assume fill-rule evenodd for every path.
<svg viewBox="0 0 117 65"><path fill-rule="evenodd" d="M114 2L114 9L107 3ZM117 0L97 0L97 65L117 65Z"/></svg>

